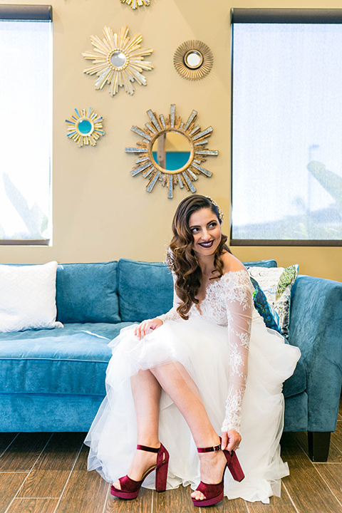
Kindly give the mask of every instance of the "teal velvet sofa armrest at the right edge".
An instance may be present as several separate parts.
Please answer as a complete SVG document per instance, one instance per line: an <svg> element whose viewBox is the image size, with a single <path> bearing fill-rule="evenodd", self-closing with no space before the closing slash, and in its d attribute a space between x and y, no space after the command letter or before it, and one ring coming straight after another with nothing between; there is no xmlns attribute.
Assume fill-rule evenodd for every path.
<svg viewBox="0 0 342 513"><path fill-rule="evenodd" d="M301 350L309 431L334 431L342 383L342 284L299 276L291 294L289 342Z"/></svg>

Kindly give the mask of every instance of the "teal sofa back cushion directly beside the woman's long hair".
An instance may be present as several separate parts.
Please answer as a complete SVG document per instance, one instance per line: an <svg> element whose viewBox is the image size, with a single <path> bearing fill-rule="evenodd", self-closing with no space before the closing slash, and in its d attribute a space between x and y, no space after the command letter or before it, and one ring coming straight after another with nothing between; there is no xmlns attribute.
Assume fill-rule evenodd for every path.
<svg viewBox="0 0 342 513"><path fill-rule="evenodd" d="M166 264L120 259L119 309L122 321L141 322L172 308L173 280Z"/></svg>

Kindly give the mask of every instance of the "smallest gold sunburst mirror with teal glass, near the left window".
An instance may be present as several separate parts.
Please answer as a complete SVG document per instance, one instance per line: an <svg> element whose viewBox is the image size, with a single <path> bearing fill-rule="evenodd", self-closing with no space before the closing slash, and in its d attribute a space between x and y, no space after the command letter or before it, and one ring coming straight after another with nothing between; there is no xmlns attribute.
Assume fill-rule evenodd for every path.
<svg viewBox="0 0 342 513"><path fill-rule="evenodd" d="M105 135L102 125L103 118L98 116L92 107L86 109L75 109L67 123L67 137L74 140L78 147L83 145L95 146L98 139Z"/></svg>

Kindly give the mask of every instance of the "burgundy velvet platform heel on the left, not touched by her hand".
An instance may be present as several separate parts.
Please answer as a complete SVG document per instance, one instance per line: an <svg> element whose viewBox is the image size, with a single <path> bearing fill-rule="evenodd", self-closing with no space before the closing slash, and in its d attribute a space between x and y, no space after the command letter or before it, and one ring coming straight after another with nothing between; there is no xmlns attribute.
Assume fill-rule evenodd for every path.
<svg viewBox="0 0 342 513"><path fill-rule="evenodd" d="M141 481L131 480L128 475L120 477L121 489L115 488L114 484L110 487L110 493L120 499L135 499L138 497L140 487L145 477L155 470L155 489L157 492L165 492L167 480L167 468L169 466L169 453L164 445L160 444L159 449L155 447L147 447L146 445L137 445L138 450L145 450L147 452L157 452L157 465L154 465L145 472Z"/></svg>

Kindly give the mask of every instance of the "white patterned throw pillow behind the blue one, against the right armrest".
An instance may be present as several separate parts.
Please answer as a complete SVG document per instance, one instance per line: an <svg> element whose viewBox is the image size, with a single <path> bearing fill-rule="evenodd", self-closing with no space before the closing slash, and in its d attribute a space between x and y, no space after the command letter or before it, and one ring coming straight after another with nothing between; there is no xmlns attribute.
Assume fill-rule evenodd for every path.
<svg viewBox="0 0 342 513"><path fill-rule="evenodd" d="M257 280L269 304L279 315L281 334L289 336L291 288L298 276L299 265L289 267L249 267L249 276Z"/></svg>

